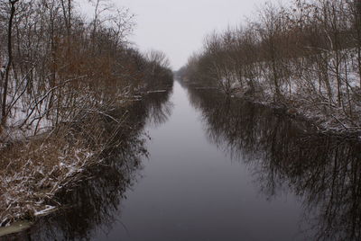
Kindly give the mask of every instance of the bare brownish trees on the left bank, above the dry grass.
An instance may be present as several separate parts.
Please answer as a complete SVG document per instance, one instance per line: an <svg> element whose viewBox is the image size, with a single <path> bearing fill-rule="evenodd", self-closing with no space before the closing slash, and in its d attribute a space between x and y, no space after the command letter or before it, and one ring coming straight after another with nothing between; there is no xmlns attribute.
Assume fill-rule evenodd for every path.
<svg viewBox="0 0 361 241"><path fill-rule="evenodd" d="M3 129L37 134L172 81L161 52L144 55L128 44L133 14L103 0L91 4L87 19L74 0L1 2Z"/></svg>

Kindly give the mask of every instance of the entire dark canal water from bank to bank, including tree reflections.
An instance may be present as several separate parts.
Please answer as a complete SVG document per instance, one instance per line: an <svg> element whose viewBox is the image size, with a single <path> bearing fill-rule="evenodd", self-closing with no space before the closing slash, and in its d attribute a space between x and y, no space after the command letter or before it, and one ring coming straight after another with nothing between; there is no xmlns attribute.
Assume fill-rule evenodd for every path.
<svg viewBox="0 0 361 241"><path fill-rule="evenodd" d="M115 161L61 197L71 206L16 237L361 238L359 143L196 86L155 99Z"/></svg>

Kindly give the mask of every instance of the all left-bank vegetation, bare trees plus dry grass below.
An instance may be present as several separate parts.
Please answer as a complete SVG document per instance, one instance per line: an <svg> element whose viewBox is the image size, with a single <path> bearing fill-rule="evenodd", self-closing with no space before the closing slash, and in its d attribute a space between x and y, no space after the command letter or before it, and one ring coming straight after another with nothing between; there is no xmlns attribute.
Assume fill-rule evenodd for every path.
<svg viewBox="0 0 361 241"><path fill-rule="evenodd" d="M55 193L121 145L126 112L111 113L172 81L162 53L127 43L127 9L91 4L89 20L73 0L0 3L0 227L53 208Z"/></svg>

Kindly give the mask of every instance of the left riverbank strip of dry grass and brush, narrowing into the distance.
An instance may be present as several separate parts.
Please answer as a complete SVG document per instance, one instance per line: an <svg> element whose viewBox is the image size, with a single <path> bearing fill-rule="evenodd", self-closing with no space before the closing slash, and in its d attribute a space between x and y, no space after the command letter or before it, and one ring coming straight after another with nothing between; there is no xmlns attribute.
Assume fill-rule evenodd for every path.
<svg viewBox="0 0 361 241"><path fill-rule="evenodd" d="M152 101L148 96L153 93L142 94L126 104L88 112L82 120L64 123L35 138L4 145L0 149L0 227L59 210L63 205L59 194L91 178L89 169L139 146L135 144L139 141L132 142L133 137L167 100L171 86L155 93L162 96Z"/></svg>

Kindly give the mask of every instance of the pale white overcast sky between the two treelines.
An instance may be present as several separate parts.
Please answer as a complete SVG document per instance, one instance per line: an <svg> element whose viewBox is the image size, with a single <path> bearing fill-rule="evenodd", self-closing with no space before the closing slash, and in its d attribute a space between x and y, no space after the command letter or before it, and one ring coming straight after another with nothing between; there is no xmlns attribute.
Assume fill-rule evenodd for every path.
<svg viewBox="0 0 361 241"><path fill-rule="evenodd" d="M135 14L130 40L142 51L162 50L174 70L186 64L213 30L226 30L255 15L266 0L111 0Z"/></svg>

